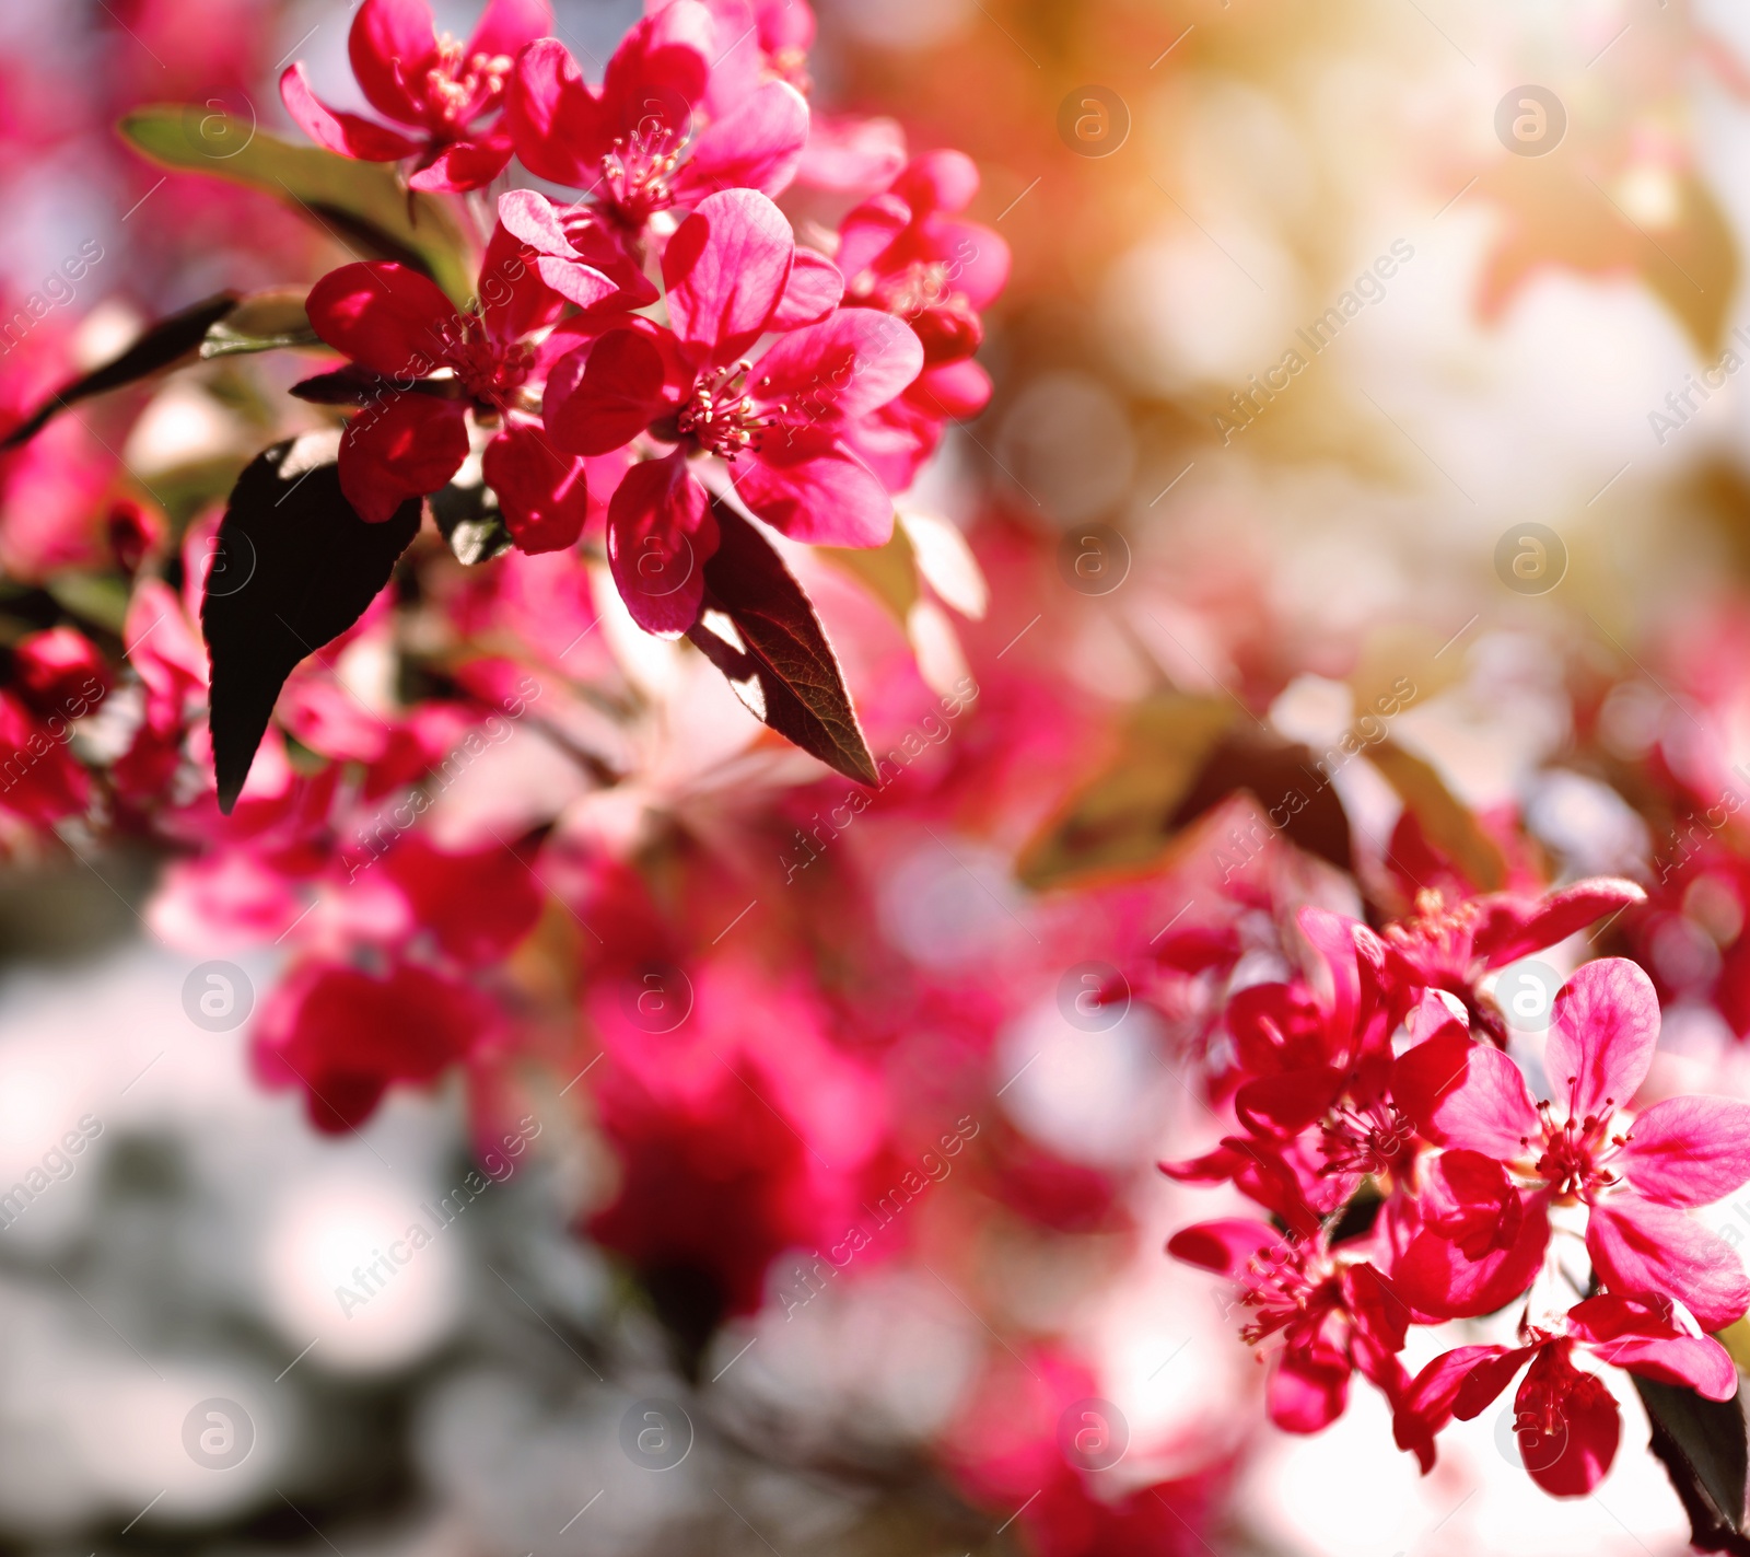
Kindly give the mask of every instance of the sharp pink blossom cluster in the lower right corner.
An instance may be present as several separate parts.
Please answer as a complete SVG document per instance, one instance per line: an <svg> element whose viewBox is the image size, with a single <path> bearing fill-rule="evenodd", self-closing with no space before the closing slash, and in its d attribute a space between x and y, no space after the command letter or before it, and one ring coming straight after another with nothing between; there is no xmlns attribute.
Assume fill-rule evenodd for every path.
<svg viewBox="0 0 1750 1557"><path fill-rule="evenodd" d="M1236 1130L1162 1170L1232 1184L1267 1219L1200 1222L1169 1251L1237 1282L1242 1336L1272 1354L1279 1427L1326 1427L1360 1371L1428 1471L1438 1431L1524 1370L1526 1468L1578 1496L1610 1469L1620 1420L1577 1354L1710 1399L1736 1394L1713 1333L1743 1317L1750 1279L1689 1212L1750 1180L1750 1103L1642 1105L1659 1000L1626 958L1568 979L1530 1075L1484 988L1643 897L1615 879L1542 898L1430 890L1377 932L1307 907L1311 976L1230 998ZM1521 1305L1519 1345L1461 1345L1414 1377L1400 1361L1412 1326L1508 1305Z"/></svg>

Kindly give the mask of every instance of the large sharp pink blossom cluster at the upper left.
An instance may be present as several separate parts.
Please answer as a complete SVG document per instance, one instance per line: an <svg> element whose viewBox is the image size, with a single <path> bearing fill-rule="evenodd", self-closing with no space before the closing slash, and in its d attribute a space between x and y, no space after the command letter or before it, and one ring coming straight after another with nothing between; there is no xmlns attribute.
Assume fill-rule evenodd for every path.
<svg viewBox="0 0 1750 1557"><path fill-rule="evenodd" d="M299 392L362 406L340 455L360 517L436 492L485 438L513 541L562 550L606 513L614 581L651 632L698 616L712 492L800 541L887 539L891 494L989 399L971 354L1008 249L959 215L978 189L966 156L896 168L891 144L858 151L868 137L844 126L822 147L798 89L812 26L802 4L670 0L593 88L546 35L546 0L494 0L467 44L438 39L420 0L366 0L354 74L406 130L334 112L285 70L313 140L406 161L413 189L478 189L514 154L581 191L497 198L466 310L388 261L317 282L310 321L350 363ZM868 198L798 243L774 201L810 170Z"/></svg>

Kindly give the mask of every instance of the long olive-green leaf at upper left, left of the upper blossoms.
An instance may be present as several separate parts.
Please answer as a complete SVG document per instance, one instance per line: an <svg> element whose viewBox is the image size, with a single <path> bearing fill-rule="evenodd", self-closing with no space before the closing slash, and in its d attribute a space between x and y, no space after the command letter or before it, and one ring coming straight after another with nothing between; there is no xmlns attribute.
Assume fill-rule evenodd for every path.
<svg viewBox="0 0 1750 1557"><path fill-rule="evenodd" d="M360 259L396 259L424 271L457 305L474 292L469 245L450 212L410 193L394 168L357 163L318 145L292 145L264 130L215 133L215 114L154 103L122 116L121 133L163 168L206 173L262 189L301 212ZM236 144L228 154L215 145Z"/></svg>

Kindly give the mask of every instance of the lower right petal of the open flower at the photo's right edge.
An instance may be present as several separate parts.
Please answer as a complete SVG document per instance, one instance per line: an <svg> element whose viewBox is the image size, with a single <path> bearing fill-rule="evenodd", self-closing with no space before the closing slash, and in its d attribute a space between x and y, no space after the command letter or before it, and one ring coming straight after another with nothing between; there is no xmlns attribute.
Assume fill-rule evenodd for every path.
<svg viewBox="0 0 1750 1557"><path fill-rule="evenodd" d="M1706 1331L1750 1308L1750 1280L1732 1247L1673 1207L1634 1194L1594 1201L1586 1249L1612 1291L1668 1293Z"/></svg>

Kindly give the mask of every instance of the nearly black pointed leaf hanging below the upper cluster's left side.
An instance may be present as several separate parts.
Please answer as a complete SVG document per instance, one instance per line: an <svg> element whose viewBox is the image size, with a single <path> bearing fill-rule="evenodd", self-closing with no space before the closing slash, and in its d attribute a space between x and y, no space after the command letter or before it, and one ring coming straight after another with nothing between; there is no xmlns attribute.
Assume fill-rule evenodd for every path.
<svg viewBox="0 0 1750 1557"><path fill-rule="evenodd" d="M248 778L285 678L364 615L420 527L416 497L383 524L359 518L340 490L338 445L334 434L308 433L257 454L219 525L201 632L224 813Z"/></svg>

